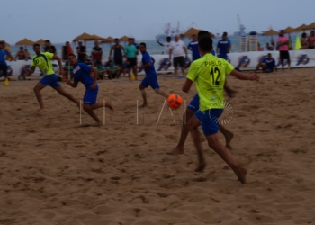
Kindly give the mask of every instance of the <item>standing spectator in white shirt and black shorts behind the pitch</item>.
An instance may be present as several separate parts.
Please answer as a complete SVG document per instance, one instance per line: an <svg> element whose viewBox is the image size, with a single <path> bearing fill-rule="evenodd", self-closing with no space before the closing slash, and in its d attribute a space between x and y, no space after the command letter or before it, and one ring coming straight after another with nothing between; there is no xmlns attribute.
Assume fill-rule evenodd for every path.
<svg viewBox="0 0 315 225"><path fill-rule="evenodd" d="M184 76L184 54L185 58L187 57L187 49L184 46L184 42L182 40L179 40L178 35L175 35L175 41L172 42L170 48L169 48L169 60L171 60L171 56L173 54L173 66L175 68L175 76L177 76L177 67L181 67L182 74Z"/></svg>

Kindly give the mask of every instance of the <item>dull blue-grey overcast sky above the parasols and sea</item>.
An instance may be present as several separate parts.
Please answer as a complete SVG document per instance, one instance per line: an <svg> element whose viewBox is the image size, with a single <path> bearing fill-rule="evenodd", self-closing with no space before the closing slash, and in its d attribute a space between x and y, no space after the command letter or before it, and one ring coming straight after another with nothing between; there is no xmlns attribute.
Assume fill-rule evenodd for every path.
<svg viewBox="0 0 315 225"><path fill-rule="evenodd" d="M315 21L315 0L1 0L0 40L73 40L82 32L102 37L132 35L155 40L164 24L177 21L213 33L297 27Z"/></svg>

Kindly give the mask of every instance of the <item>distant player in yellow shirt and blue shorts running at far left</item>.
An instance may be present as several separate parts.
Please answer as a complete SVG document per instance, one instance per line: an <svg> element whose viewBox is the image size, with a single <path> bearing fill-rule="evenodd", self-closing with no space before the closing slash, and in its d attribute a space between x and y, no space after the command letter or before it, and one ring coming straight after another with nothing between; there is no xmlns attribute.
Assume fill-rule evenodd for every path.
<svg viewBox="0 0 315 225"><path fill-rule="evenodd" d="M28 70L31 74L34 73L35 68L39 67L41 73L44 75L40 82L37 83L34 87L34 92L36 94L37 100L40 103L40 109L35 112L35 114L40 114L42 112L45 112L44 103L42 103L42 98L40 94L40 90L46 87L47 85L54 88L56 91L58 91L59 94L62 96L67 97L68 100L76 103L76 105L79 107L80 103L76 100L74 96L67 93L62 86L58 83L58 76L55 74L54 70L52 69L51 60L55 59L58 60L59 65L59 73L64 76L64 71L62 67L61 59L58 58L58 56L49 53L49 52L40 52L40 45L34 44L33 50L35 51L36 55L31 60L31 69Z"/></svg>

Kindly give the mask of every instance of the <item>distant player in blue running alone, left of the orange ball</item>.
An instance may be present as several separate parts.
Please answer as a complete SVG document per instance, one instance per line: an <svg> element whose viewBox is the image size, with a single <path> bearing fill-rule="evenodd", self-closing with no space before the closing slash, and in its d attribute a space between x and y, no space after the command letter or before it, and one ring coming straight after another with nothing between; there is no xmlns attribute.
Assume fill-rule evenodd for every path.
<svg viewBox="0 0 315 225"><path fill-rule="evenodd" d="M139 49L142 53L142 66L138 68L144 69L146 73L146 77L144 77L141 84L139 85L139 89L143 97L143 104L140 107L145 107L148 105L147 94L145 91L145 88L147 88L148 86L151 86L157 94L160 94L166 98L168 97L168 95L159 88L157 82L157 72L154 68L155 60L150 55L148 55L146 43L140 43Z"/></svg>

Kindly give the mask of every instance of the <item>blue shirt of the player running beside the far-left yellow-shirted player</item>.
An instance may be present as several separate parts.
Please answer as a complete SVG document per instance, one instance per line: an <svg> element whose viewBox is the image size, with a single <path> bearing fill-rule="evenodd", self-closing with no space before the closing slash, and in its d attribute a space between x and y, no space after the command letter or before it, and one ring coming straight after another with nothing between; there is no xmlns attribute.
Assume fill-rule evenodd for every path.
<svg viewBox="0 0 315 225"><path fill-rule="evenodd" d="M90 75L91 70L92 67L87 66L85 63L78 62L73 69L74 82L81 82L85 87L93 85L94 77Z"/></svg>

